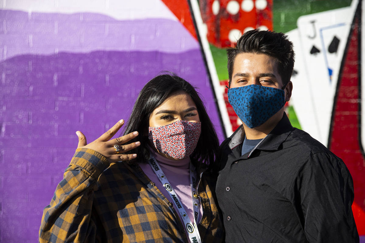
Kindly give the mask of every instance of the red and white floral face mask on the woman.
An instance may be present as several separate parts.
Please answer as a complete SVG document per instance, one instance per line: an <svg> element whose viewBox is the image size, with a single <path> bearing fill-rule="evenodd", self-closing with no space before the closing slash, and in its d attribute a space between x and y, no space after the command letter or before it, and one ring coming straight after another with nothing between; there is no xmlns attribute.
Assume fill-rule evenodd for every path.
<svg viewBox="0 0 365 243"><path fill-rule="evenodd" d="M157 128L150 126L148 138L160 153L183 159L193 153L200 133L201 122L180 120Z"/></svg>

